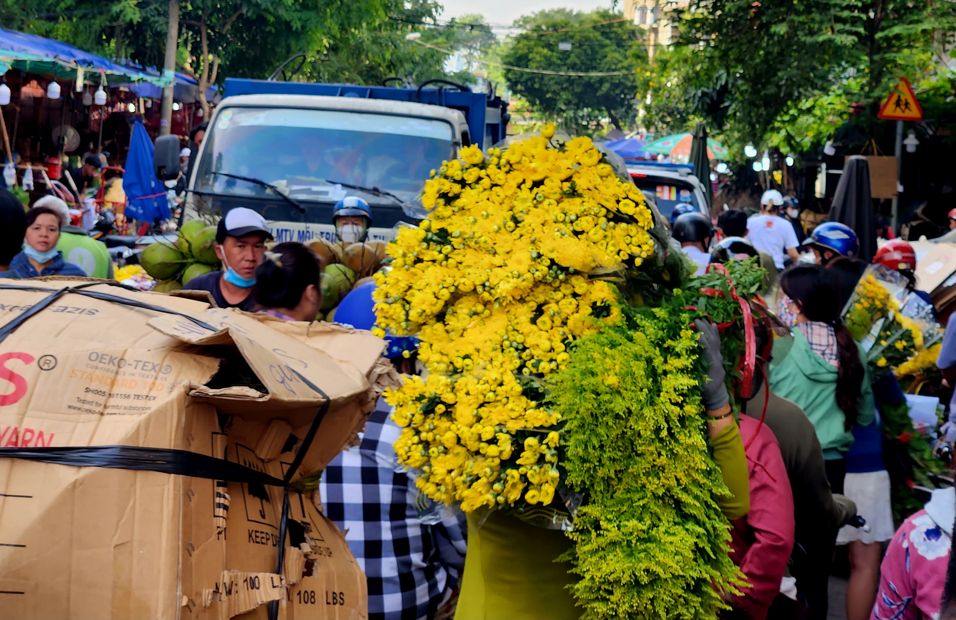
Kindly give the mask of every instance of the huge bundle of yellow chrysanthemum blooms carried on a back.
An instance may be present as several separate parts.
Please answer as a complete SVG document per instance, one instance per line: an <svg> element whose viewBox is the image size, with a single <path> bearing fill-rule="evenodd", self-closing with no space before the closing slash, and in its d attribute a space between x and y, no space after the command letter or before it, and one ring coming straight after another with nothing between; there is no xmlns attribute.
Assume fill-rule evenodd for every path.
<svg viewBox="0 0 956 620"><path fill-rule="evenodd" d="M429 498L462 508L547 505L559 479L559 416L541 377L575 339L619 322L595 272L641 267L651 210L590 139L464 148L425 183L431 209L399 230L376 274L377 332L418 333L426 378L386 394L396 452Z"/></svg>

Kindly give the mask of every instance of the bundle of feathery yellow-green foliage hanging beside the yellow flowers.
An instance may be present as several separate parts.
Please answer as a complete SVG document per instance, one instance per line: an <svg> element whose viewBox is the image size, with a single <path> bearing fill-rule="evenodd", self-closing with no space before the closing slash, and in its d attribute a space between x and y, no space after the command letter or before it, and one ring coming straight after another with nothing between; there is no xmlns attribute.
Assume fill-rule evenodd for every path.
<svg viewBox="0 0 956 620"><path fill-rule="evenodd" d="M699 294L675 289L661 306L626 309L626 326L583 338L548 381L565 484L588 497L565 557L583 617L714 617L727 607L720 592L741 584L698 390L705 368L690 324L702 312L686 310ZM731 304L706 308L730 318Z"/></svg>

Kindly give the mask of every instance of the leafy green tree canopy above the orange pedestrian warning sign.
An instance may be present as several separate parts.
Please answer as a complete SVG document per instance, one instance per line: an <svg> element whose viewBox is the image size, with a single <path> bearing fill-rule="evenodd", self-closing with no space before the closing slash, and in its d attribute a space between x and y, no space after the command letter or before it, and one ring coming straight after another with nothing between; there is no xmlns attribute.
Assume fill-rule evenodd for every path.
<svg viewBox="0 0 956 620"><path fill-rule="evenodd" d="M730 143L809 149L851 102L872 123L900 75L948 75L939 60L954 16L949 3L911 0L692 0L674 16L677 45L641 67L648 122L704 118Z"/></svg>

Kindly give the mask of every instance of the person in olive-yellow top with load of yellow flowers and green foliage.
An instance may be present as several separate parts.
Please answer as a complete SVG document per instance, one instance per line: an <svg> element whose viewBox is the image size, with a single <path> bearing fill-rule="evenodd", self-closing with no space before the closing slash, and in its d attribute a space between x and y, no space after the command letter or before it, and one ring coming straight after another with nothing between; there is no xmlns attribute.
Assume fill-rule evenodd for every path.
<svg viewBox="0 0 956 620"><path fill-rule="evenodd" d="M422 203L376 276L373 331L421 339L428 374L386 398L400 463L468 515L458 616L727 609L745 583L728 517L749 510L736 371L692 325L740 311L737 289L700 310L622 161L553 127L463 148Z"/></svg>

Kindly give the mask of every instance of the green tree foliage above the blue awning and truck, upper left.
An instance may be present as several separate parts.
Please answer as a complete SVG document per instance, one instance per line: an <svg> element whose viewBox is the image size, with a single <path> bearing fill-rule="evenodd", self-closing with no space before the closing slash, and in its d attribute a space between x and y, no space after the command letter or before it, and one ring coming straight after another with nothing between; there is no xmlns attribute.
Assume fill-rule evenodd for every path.
<svg viewBox="0 0 956 620"><path fill-rule="evenodd" d="M6 28L33 32L106 57L162 67L165 0L0 0ZM493 41L480 17L465 28L434 28L434 0L183 0L178 69L206 83L226 76L264 78L295 53L306 61L295 79L380 84L398 75L413 83L445 71L448 53L468 53ZM205 40L205 45L204 45ZM297 61L292 63L294 67Z"/></svg>

